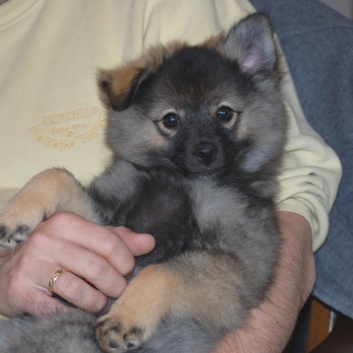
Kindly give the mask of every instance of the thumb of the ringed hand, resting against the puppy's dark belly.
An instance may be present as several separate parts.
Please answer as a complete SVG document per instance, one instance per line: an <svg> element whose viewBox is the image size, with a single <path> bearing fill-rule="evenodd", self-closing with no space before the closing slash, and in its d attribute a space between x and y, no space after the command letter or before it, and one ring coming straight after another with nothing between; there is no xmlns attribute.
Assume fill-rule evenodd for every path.
<svg viewBox="0 0 353 353"><path fill-rule="evenodd" d="M155 238L146 233L134 233L125 227L114 227L112 231L120 236L134 256L141 256L151 252L155 245Z"/></svg>

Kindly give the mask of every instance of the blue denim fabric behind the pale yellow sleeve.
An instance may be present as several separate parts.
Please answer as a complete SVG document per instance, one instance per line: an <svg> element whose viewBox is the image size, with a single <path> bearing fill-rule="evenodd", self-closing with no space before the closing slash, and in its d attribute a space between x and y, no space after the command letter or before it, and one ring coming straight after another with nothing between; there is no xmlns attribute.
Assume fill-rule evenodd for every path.
<svg viewBox="0 0 353 353"><path fill-rule="evenodd" d="M251 2L271 17L306 118L343 164L314 295L353 318L353 22L315 0Z"/></svg>

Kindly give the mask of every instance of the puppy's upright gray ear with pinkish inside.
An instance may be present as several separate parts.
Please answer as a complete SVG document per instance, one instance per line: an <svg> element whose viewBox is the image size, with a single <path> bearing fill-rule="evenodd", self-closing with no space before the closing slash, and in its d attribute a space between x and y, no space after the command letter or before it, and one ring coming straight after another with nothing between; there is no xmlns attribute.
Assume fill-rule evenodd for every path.
<svg viewBox="0 0 353 353"><path fill-rule="evenodd" d="M278 70L273 28L265 14L254 13L234 25L225 39L224 50L244 73L267 76Z"/></svg>

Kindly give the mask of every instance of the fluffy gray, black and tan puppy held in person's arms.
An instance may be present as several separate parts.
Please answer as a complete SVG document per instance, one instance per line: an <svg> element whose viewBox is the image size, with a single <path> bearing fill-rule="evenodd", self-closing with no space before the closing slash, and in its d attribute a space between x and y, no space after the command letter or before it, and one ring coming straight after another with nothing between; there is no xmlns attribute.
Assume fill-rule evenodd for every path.
<svg viewBox="0 0 353 353"><path fill-rule="evenodd" d="M3 251L60 210L154 235L155 249L136 258L133 280L96 323L104 351L212 352L265 297L280 245L274 197L287 117L279 71L271 24L259 13L202 45L154 47L101 71L110 167L88 188L66 170L44 171L2 211ZM54 348L63 338L43 334L48 320L59 332L74 320L90 325L92 339L91 318L75 315L31 323L28 345L73 345ZM84 347L87 335L69 331Z"/></svg>

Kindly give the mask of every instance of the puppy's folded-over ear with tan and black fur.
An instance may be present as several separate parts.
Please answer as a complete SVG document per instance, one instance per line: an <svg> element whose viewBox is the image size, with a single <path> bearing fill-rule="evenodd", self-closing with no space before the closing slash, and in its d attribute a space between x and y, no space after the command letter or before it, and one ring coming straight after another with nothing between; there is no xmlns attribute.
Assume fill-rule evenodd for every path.
<svg viewBox="0 0 353 353"><path fill-rule="evenodd" d="M126 109L148 75L148 68L136 62L113 70L100 70L98 86L102 102L108 109Z"/></svg>

